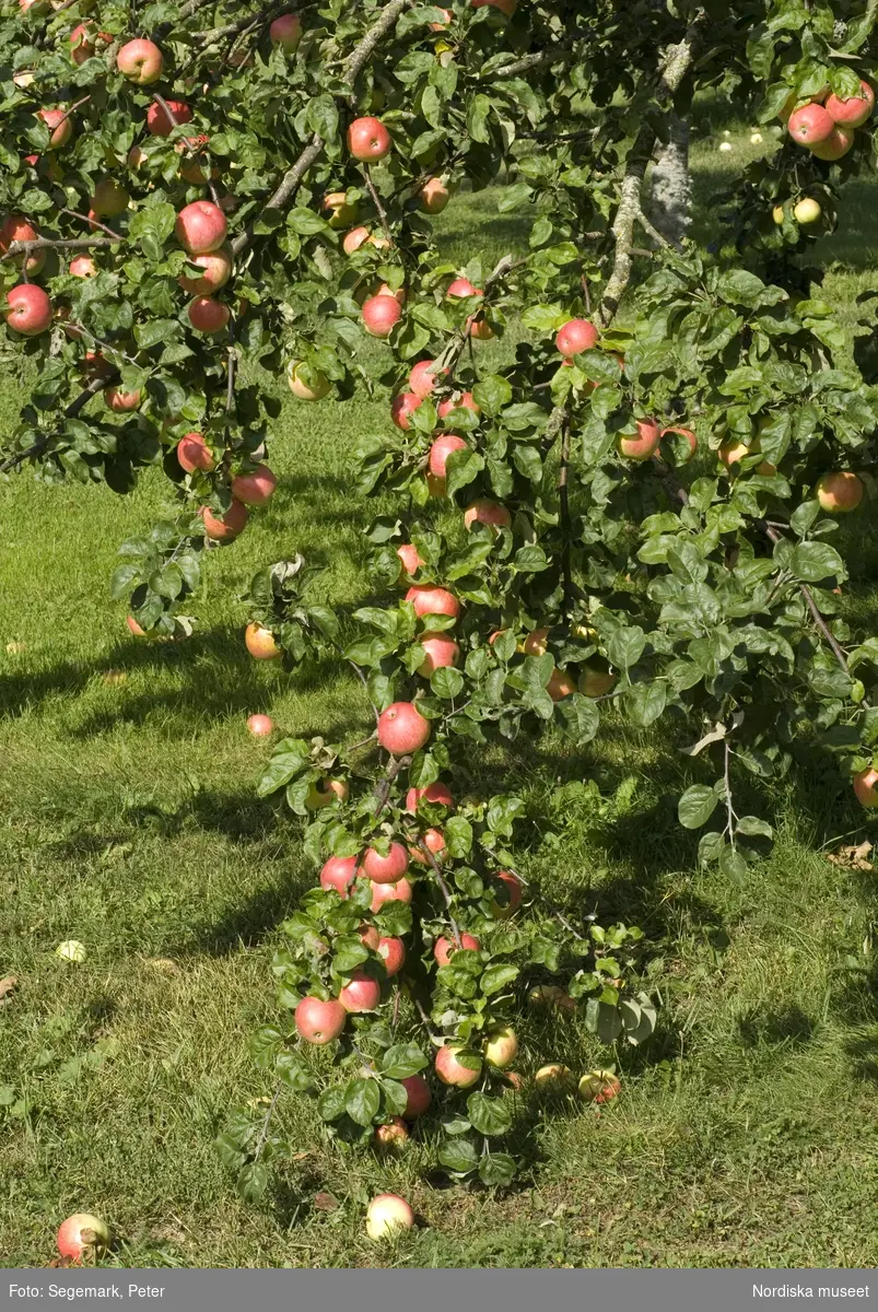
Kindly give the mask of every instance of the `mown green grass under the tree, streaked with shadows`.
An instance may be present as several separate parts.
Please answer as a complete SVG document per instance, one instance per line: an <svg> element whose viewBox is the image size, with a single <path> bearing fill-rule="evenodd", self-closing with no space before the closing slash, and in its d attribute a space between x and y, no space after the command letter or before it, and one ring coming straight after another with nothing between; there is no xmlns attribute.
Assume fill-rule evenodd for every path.
<svg viewBox="0 0 878 1312"><path fill-rule="evenodd" d="M698 136L701 215L761 148L748 136L724 123ZM478 248L490 266L524 241L499 195L459 197L440 220L458 261ZM839 304L878 286L877 199L865 184L845 193L826 283ZM0 422L18 391L7 377ZM646 930L659 1029L619 1054L618 1103L597 1115L525 1097L514 1147L532 1166L497 1195L430 1176L428 1127L392 1161L346 1155L323 1141L314 1103L286 1093L278 1128L295 1157L262 1206L236 1197L213 1139L231 1106L270 1093L244 1043L276 1018L278 925L315 879L297 823L255 796L266 747L245 720L266 711L281 732L350 741L369 719L344 668L290 678L249 660L238 597L259 564L298 550L331 564L327 596L364 596L375 508L350 496L350 453L388 421L385 403L303 405L282 379L280 392L280 491L211 556L192 607L202 622L180 646L130 639L108 600L157 478L127 500L29 474L0 489L0 976L17 976L0 1004L1 1261L47 1262L60 1220L96 1211L121 1236L108 1261L129 1266L875 1265L875 878L827 859L874 837L875 820L816 761L774 789L770 861L730 884L696 867L697 836L676 824L698 766L613 722L581 756L551 739L486 753L459 789L522 791L538 825L528 875L576 912ZM878 619L868 514L848 530L862 550L845 605ZM70 938L83 964L55 955ZM525 1072L605 1060L563 1017L525 1019L520 1038ZM364 1231L385 1190L424 1223L391 1246Z"/></svg>

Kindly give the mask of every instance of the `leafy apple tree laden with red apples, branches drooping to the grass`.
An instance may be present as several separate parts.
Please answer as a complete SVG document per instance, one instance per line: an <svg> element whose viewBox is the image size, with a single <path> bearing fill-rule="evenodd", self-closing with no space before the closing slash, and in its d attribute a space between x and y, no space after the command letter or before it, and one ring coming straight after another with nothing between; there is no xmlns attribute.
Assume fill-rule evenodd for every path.
<svg viewBox="0 0 878 1312"><path fill-rule="evenodd" d="M123 495L161 466L176 517L136 529L112 583L131 631L189 631L210 555L274 491L265 371L303 416L358 388L386 399L352 492L395 508L367 534L382 604L315 601L302 555L251 585L252 656L295 677L331 652L374 711L343 743L278 743L260 782L320 874L283 925L278 1019L253 1054L360 1144L408 1132L432 1067L440 1161L507 1183L525 996L581 1010L609 1060L655 1010L639 930L532 887L524 802L458 795L467 753L665 723L698 779L680 823L728 878L772 841L740 813L742 779L829 750L878 804L878 643L837 602L839 516L873 497L875 311L852 329L812 264L840 185L873 167L875 8L1 12L4 362L30 398L0 472ZM776 125L710 253L647 216L651 161L707 89ZM432 219L501 172L526 253L454 268ZM513 362L487 367L512 321ZM333 1044L328 1073L308 1043ZM580 1084L617 1090L612 1069ZM283 1145L269 1109L236 1114L220 1147L259 1197Z"/></svg>

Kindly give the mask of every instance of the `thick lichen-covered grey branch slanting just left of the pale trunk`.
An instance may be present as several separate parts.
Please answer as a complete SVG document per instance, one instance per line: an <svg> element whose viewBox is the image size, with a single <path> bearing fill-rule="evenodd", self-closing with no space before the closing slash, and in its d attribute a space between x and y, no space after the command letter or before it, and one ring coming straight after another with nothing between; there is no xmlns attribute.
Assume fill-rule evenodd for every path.
<svg viewBox="0 0 878 1312"><path fill-rule="evenodd" d="M700 10L689 25L684 39L677 46L669 46L665 51L658 87L658 94L663 100L673 96L689 72L703 22L705 13ZM643 180L647 165L652 159L655 140L655 131L646 122L629 151L627 167L619 188L619 203L612 224L613 237L616 239L616 258L598 310L598 318L604 328L609 327L616 316L622 297L631 281L634 228L639 223L650 236L654 239L659 236L658 231L643 214L642 206Z"/></svg>

